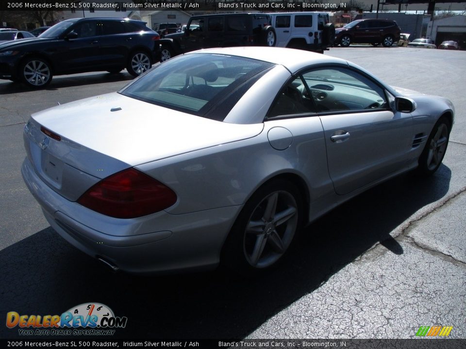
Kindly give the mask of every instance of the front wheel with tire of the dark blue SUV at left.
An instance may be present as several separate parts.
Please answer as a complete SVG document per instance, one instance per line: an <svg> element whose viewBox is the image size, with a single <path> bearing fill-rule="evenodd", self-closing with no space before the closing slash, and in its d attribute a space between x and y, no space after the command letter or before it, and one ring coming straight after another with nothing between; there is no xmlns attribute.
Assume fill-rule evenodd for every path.
<svg viewBox="0 0 466 349"><path fill-rule="evenodd" d="M41 57L28 57L20 64L18 76L26 86L38 89L50 84L53 73L47 60Z"/></svg>

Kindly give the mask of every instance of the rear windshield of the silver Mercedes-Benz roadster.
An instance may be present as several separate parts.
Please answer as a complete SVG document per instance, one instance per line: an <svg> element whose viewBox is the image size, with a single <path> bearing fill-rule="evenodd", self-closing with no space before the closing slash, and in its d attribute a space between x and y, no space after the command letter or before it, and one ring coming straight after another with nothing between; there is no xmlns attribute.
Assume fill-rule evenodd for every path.
<svg viewBox="0 0 466 349"><path fill-rule="evenodd" d="M238 86L272 65L244 57L187 54L159 64L119 93L204 116Z"/></svg>

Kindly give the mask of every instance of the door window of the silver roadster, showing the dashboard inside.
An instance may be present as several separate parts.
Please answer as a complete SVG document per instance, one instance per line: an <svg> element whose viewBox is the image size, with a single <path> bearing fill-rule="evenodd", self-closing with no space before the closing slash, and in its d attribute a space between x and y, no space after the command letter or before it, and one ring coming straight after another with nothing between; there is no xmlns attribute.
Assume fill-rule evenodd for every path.
<svg viewBox="0 0 466 349"><path fill-rule="evenodd" d="M302 75L317 112L388 108L383 89L360 73L346 68L322 68Z"/></svg>

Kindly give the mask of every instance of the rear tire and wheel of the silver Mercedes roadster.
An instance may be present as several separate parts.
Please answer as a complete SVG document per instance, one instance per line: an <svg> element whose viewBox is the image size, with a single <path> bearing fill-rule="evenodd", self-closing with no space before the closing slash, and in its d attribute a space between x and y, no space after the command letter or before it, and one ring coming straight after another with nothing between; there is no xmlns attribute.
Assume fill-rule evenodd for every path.
<svg viewBox="0 0 466 349"><path fill-rule="evenodd" d="M244 276L282 260L301 225L302 198L286 180L272 180L248 200L222 250L222 264Z"/></svg>

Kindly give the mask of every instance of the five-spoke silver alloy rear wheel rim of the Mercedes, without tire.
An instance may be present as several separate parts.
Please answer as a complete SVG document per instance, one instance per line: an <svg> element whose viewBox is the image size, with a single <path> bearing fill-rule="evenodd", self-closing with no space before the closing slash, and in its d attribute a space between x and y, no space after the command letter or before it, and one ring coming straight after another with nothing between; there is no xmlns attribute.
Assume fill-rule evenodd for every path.
<svg viewBox="0 0 466 349"><path fill-rule="evenodd" d="M288 191L274 191L252 211L246 224L243 251L255 268L274 264L288 249L298 227L298 204Z"/></svg>

